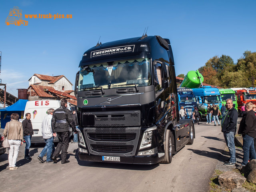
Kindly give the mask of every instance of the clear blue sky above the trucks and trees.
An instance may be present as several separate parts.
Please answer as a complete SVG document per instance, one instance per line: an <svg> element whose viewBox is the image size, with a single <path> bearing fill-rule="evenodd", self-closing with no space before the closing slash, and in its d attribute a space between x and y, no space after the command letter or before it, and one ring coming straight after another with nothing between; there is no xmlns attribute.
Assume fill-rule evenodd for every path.
<svg viewBox="0 0 256 192"><path fill-rule="evenodd" d="M18 6L28 26L5 24ZM82 54L102 43L148 35L171 41L176 75L211 57L256 51L254 0L1 0L0 78L7 91L28 88L34 74L65 75L73 84ZM25 19L25 14L72 14L68 19Z"/></svg>

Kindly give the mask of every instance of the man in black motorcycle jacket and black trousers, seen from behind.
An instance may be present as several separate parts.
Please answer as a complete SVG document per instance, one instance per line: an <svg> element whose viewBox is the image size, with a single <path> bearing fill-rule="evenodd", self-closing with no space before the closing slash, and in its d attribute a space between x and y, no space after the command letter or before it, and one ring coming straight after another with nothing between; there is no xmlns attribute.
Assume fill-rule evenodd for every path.
<svg viewBox="0 0 256 192"><path fill-rule="evenodd" d="M76 126L72 119L71 111L67 109L68 101L62 99L60 108L56 109L52 114L52 132L56 133L59 143L52 155L52 160L57 163L57 156L61 151L61 163L65 164L69 161L67 158L68 142L69 142L69 126L73 132L76 132Z"/></svg>

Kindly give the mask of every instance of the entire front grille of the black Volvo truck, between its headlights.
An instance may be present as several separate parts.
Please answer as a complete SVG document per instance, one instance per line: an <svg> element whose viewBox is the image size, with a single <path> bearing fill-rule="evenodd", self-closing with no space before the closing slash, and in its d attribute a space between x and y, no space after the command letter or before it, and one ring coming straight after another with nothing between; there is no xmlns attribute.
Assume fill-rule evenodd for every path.
<svg viewBox="0 0 256 192"><path fill-rule="evenodd" d="M94 155L134 156L140 137L140 111L83 113L84 136ZM89 123L88 123L89 122Z"/></svg>

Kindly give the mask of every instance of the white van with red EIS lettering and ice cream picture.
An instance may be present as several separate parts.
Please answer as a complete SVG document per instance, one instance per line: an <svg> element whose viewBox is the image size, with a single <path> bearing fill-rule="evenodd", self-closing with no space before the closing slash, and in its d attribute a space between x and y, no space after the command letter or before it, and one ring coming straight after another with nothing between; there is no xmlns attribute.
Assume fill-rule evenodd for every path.
<svg viewBox="0 0 256 192"><path fill-rule="evenodd" d="M59 100L36 100L36 101L28 101L26 103L24 118L26 118L25 114L31 114L31 122L33 126L34 135L31 138L31 143L44 143L44 139L42 137L42 121L44 117L47 115L47 110L53 108L56 110L60 107ZM72 110L70 107L70 103L68 102L69 110ZM24 120L24 119L22 119ZM20 120L20 122L22 122ZM70 128L71 131L71 128ZM70 134L71 135L71 134ZM54 142L58 142L58 137L54 137Z"/></svg>

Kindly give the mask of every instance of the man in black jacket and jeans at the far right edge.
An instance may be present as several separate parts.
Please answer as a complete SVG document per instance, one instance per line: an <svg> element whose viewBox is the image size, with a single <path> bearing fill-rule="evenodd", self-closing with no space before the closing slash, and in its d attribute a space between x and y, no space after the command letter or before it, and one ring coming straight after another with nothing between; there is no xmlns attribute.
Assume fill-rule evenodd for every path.
<svg viewBox="0 0 256 192"><path fill-rule="evenodd" d="M244 151L242 165L238 168L246 166L249 160L249 154L251 154L251 159L256 159L256 153L254 149L254 138L256 137L256 116L252 110L252 107L253 104L251 102L246 103L244 109L247 113L244 114L238 130L238 134L242 134L243 136Z"/></svg>

